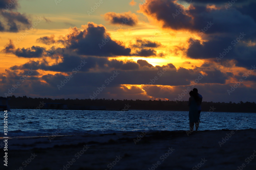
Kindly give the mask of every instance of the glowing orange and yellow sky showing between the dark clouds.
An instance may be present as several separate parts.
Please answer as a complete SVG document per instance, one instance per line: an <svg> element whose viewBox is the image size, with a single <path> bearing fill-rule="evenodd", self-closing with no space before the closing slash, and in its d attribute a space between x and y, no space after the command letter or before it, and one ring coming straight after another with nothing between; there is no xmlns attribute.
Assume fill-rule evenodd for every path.
<svg viewBox="0 0 256 170"><path fill-rule="evenodd" d="M140 5L140 1L115 1L115 2L104 2L101 6L97 7L98 9L92 12L92 14L88 15L88 11L90 11L90 6L94 6L92 2L81 2L81 6L83 5L88 5L88 9L85 11L82 10L70 10L68 12L61 12L64 9L67 9L69 6L72 6L72 4L68 2L61 2L59 4L53 4L56 5L55 11L51 12L42 12L42 10L34 10L33 6L40 5L43 9L47 9L47 6L42 4L39 1L36 2L23 2L19 1L18 4L19 6L16 7L16 9L10 9L10 11L18 11L21 12L21 14L24 14L25 17L29 18L30 23L35 24L36 21L38 21L38 18L42 18L40 22L38 22L33 30L31 29L21 29L18 32L8 32L8 31L3 31L1 34L1 41L0 41L0 46L2 47L1 52L0 52L0 73L2 73L2 76L7 76L6 69L12 70L13 66L16 67L22 67L25 63L31 63L33 61L39 62L40 64L42 63L47 63L46 66L57 66L64 62L66 59L62 54L54 55L54 58L52 57L47 57L45 56L46 53L43 54L43 57L20 57L17 56L14 52L9 52L6 53L4 50L7 45L9 44L10 40L12 40L13 44L15 45L15 50L20 48L24 49L29 49L32 46L38 46L38 47L44 47L45 50L49 50L53 46L55 48L63 48L67 49L68 51L70 50L68 46L70 44L62 44L62 43L57 43L58 40L63 40L66 41L66 43L74 43L69 40L71 36L71 28L78 28L78 30L83 31L83 30L88 30L88 23L93 23L94 27L103 27L105 31L105 35L108 35L111 40L116 42L118 45L122 46L122 48L128 48L131 49L130 56L127 55L113 55L113 56L108 56L107 59L109 62L114 62L115 60L118 60L120 63L122 62L123 64L132 64L135 67L135 63L137 63L137 60L146 60L148 64L152 64L153 67L147 67L147 66L142 66L141 64L138 63L136 67L138 67L138 71L159 71L161 70L158 66L167 66L167 64L172 64L176 70L177 78L179 79L180 82L182 82L182 77L179 77L179 74L184 76L185 74L191 75L191 77L186 77L184 76L184 81L188 82L193 82L195 81L196 75L202 73L206 76L211 76L206 80L204 80L204 83L200 82L198 85L201 88L205 88L204 90L207 89L208 86L222 86L223 91L227 91L230 85L236 83L239 81L239 77L242 77L241 73L246 73L250 69L245 68L242 66L239 66L237 63L238 61L232 60L232 59L227 59L223 58L221 63L216 62L215 58L211 57L191 57L188 56L188 49L190 48L195 48L195 46L204 46L205 43L208 43L212 41L214 38L213 36L220 36L220 33L210 33L212 30L216 28L209 28L209 31L207 33L202 33L199 32L200 29L197 29L197 26L193 27L193 22L191 22L191 25L184 26L186 25L179 25L178 27L180 28L172 28L174 27L173 25L168 25L169 23L167 22L167 19L162 17L162 19L156 18L156 15L158 13L156 12L155 14L149 13L149 9L152 8L153 6L150 7L149 4L153 3L153 0L147 1L143 5ZM161 3L160 1L155 1L157 3ZM50 1L45 1L45 3L50 3ZM52 2L51 2L52 3ZM79 2L80 3L80 2ZM112 3L116 3L119 8L113 8ZM182 8L183 10L186 10L187 13L186 15L191 17L192 19L195 20L195 16L192 16L192 14L188 14L190 9L196 9L196 4L190 4L189 6L181 6L177 2L172 2L170 1L169 3L173 3L172 5L176 5L177 7ZM148 6L147 6L148 5ZM209 5L205 4L207 6L206 11L210 12L211 11L221 11L223 10L223 7L218 6L218 4L214 5ZM29 8L28 8L29 7ZM53 6L50 6L49 9L53 8ZM61 10L63 9L63 10ZM72 8L68 8L72 9ZM147 9L147 10L146 10ZM175 8L174 8L175 9ZM47 11L47 10L46 10ZM153 11L153 10L152 10ZM229 12L229 11L228 11ZM25 14L26 13L26 14ZM169 17L172 18L174 13L169 13ZM177 15L177 19L174 20L175 22L178 21L179 19L182 19L182 17L185 16L184 14L179 14ZM186 17L187 17L186 16ZM118 17L127 17L128 19L130 18L129 23L121 25L122 20L118 20ZM161 17L160 17L161 18ZM170 18L169 18L170 19ZM219 19L219 18L218 18ZM120 23L119 23L120 22ZM134 22L134 23L131 23ZM217 22L217 21L216 21ZM208 23L208 22L207 22ZM207 24L206 23L206 24ZM180 24L180 23L175 23L175 24ZM216 24L217 25L217 24ZM191 27L191 28L189 28ZM212 26L214 27L214 26ZM22 27L20 27L22 28ZM203 27L202 27L203 28ZM205 27L206 28L206 27ZM211 30L212 29L212 30ZM208 28L207 28L208 30ZM87 31L88 32L88 31ZM86 37L88 33L84 34ZM42 42L37 41L38 38L40 37L50 37L54 35L54 40L55 43L53 44L44 44ZM68 36L67 36L68 35ZM238 34L239 35L239 34ZM72 35L73 36L73 35ZM77 36L77 35L76 35ZM200 42L197 45L192 45L192 47L189 45L191 42L190 38L194 39L193 44L196 42ZM138 40L141 40L143 42L151 42L151 43L156 43L159 44L157 47L145 47L145 50L151 50L155 51L155 55L151 56L143 56L140 55L139 52L142 50L141 48L135 47L136 43ZM76 40L79 42L79 40ZM254 47L255 42L252 40L247 40L247 39L242 39L243 44L247 44L248 47ZM240 43L240 44L242 44ZM137 44L138 45L138 44ZM84 46L86 47L86 46ZM227 48L228 45L225 45L223 49ZM73 48L73 47L72 47ZM95 47L96 48L96 47ZM100 49L96 49L100 50ZM195 48L195 50L197 50ZM234 50L233 50L234 51ZM71 53L76 53L76 50L70 50L67 54ZM147 51L148 52L148 51ZM207 50L205 51L205 53ZM220 51L222 52L222 51ZM138 54L136 54L138 53ZM142 54L142 53L141 53ZM218 54L218 53L217 53ZM96 57L96 58L101 58L103 56L97 56L97 55L85 55L82 54L80 57ZM56 58L57 57L57 58ZM104 58L104 57L103 57ZM223 64L222 62L225 60L225 63ZM74 64L74 65L78 65ZM229 65L229 66L228 66ZM46 67L44 66L44 67ZM207 66L207 67L206 67ZM110 63L105 63L105 67L110 67ZM168 66L172 67L172 66ZM128 67L129 68L129 67ZM63 75L67 76L70 71L60 71L61 69L38 69L38 75L35 75L39 80L39 82L43 83L41 85L45 86L45 84L48 84L49 86L52 86L48 80L45 79L46 75L49 76L57 76L57 75ZM63 70L63 69L62 69ZM116 68L108 68L108 70L104 70L104 68L100 68L99 65L97 65L94 68L90 68L84 73L99 73L99 72L112 72L113 70L116 70ZM124 71L125 69L123 69ZM128 69L129 70L129 69ZM136 70L136 69L135 69ZM24 70L22 69L16 69L13 70L16 73L22 74ZM121 69L122 71L122 69ZM209 72L210 71L210 72ZM127 68L126 71L124 71L126 74L128 74ZM168 71L169 72L169 71ZM184 74L183 74L184 72ZM215 73L216 72L216 73ZM60 73L60 74L59 74ZM255 72L251 72L250 76L254 77L256 74ZM174 74L171 74L170 72L168 73L168 76L176 76ZM164 91L169 91L169 97L168 95L153 95L150 94L149 91L143 90L143 85L148 83L148 81L141 82L140 84L134 84L131 83L132 85L129 85L126 83L126 81L120 81L118 85L116 84L116 93L123 93L121 95L122 97L125 97L125 93L127 91L133 91L135 93L136 90L138 90L137 95L132 96L133 98L137 97L142 97L143 99L162 99L162 100L173 100L173 96L177 96L177 94L182 93L181 89L186 88L188 84L183 83L175 83L175 80L171 80L170 77L165 77L164 79L170 79L169 84L165 82L165 80L158 81L158 83L155 83L153 86L155 86L155 90L160 89L163 94ZM214 77L215 76L215 77ZM218 76L222 77L218 82ZM152 75L152 77L154 77ZM163 76L164 77L164 76ZM224 80L225 77L225 80ZM3 80L3 79L2 79ZM245 80L245 79L244 79ZM248 87L252 88L255 85L255 82L253 80L244 81L242 86L240 87ZM92 81L94 82L94 81ZM137 81L139 82L139 81ZM222 83L220 83L222 82ZM10 83L10 82L9 82ZM45 84L44 84L45 83ZM3 84L3 88L8 87L7 84ZM11 86L11 83L9 84ZM225 86L225 88L224 88ZM46 86L45 86L46 87ZM90 87L93 89L92 85ZM134 88L132 88L134 87ZM97 89L97 86L95 85L94 89ZM152 88L153 89L153 88ZM175 90L176 89L176 90ZM224 90L226 89L226 90ZM6 91L7 89L3 90ZM123 91L123 92L120 92ZM179 90L179 91L177 91ZM159 91L159 93L162 93ZM169 93L168 92L168 93ZM171 92L175 93L172 94ZM112 94L113 91L109 89L108 92L105 92L106 97L111 97L116 96L116 94ZM130 93L130 92L129 92ZM225 92L227 93L227 92ZM23 94L22 92L19 92L17 95ZM88 93L90 94L90 93ZM31 92L31 95L35 96L35 91ZM210 94L209 94L210 95ZM28 95L29 96L29 95ZM53 95L54 96L54 95ZM52 96L52 97L53 97ZM63 96L60 93L56 93L56 97ZM71 95L67 96L70 97ZM78 94L79 97L82 98L80 94ZM84 96L85 98L88 98L89 95ZM99 97L104 97L99 96ZM209 97L209 100L211 98ZM225 100L228 100L229 96L226 97ZM217 100L217 99L216 99Z"/></svg>

